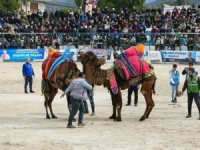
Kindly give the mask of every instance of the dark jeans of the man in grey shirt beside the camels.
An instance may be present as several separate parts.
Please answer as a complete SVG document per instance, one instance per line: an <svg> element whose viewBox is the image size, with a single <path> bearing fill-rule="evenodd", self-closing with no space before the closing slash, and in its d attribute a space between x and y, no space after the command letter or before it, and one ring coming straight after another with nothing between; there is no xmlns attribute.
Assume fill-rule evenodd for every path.
<svg viewBox="0 0 200 150"><path fill-rule="evenodd" d="M85 111L83 101L80 99L73 98L73 97L70 97L70 101L72 103L72 110L69 115L68 125L72 125L72 121L74 119L74 116L78 112L78 110L79 110L78 123L82 123L83 115Z"/></svg>

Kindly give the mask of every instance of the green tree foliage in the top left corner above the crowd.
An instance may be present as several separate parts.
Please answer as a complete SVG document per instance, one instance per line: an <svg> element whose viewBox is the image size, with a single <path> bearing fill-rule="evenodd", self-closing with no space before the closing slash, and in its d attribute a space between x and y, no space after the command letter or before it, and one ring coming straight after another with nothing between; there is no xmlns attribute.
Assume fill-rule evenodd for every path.
<svg viewBox="0 0 200 150"><path fill-rule="evenodd" d="M19 0L0 0L0 11L17 11Z"/></svg>

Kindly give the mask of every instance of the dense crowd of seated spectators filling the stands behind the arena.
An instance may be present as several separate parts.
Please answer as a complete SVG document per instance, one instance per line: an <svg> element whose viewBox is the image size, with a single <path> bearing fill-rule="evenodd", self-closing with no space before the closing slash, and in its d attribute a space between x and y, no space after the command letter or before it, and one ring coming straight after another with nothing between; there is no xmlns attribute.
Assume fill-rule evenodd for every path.
<svg viewBox="0 0 200 150"><path fill-rule="evenodd" d="M156 50L200 50L200 10L56 10L0 12L0 48L43 48L72 44L126 48L137 43Z"/></svg>

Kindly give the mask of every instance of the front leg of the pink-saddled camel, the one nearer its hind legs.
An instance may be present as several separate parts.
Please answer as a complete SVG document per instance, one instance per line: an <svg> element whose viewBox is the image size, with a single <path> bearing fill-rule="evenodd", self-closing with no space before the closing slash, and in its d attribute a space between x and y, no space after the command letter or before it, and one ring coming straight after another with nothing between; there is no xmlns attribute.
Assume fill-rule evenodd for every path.
<svg viewBox="0 0 200 150"><path fill-rule="evenodd" d="M122 95L121 91L115 95L116 100L116 109L117 109L117 118L115 121L122 121L121 111L122 111Z"/></svg>

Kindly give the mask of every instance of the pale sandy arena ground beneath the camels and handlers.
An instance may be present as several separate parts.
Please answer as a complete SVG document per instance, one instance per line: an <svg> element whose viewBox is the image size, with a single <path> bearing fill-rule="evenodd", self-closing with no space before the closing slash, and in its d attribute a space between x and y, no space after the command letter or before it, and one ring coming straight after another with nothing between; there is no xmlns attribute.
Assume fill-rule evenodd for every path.
<svg viewBox="0 0 200 150"><path fill-rule="evenodd" d="M104 68L111 64L107 64ZM86 114L84 128L67 129L68 110L61 91L54 102L58 119L45 119L44 98L41 96L41 62L33 63L36 78L35 94L24 94L22 63L0 63L0 149L1 150L199 150L200 120L193 103L193 116L186 119L187 97L172 105L169 70L171 64L155 65L157 73L155 108L150 118L139 122L145 101L139 94L138 106L124 106L122 122L113 122L109 93L95 87L96 116ZM81 65L79 64L79 67ZM179 66L182 70L185 65ZM200 70L200 67L197 67ZM182 84L184 77L182 77ZM182 88L181 84L181 88ZM123 102L127 90L123 91ZM90 109L91 111L91 109ZM74 123L77 125L77 123Z"/></svg>

